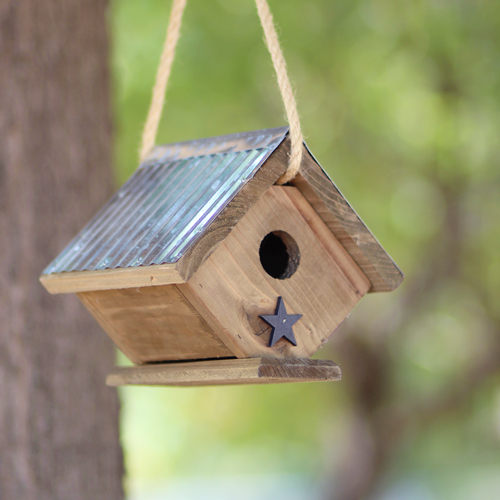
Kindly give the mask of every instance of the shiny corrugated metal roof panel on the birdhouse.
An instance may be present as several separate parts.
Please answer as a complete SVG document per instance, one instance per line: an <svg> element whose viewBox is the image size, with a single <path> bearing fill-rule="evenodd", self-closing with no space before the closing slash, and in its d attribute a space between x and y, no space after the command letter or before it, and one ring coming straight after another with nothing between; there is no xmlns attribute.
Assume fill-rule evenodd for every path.
<svg viewBox="0 0 500 500"><path fill-rule="evenodd" d="M156 147L43 274L177 262L287 127Z"/></svg>

